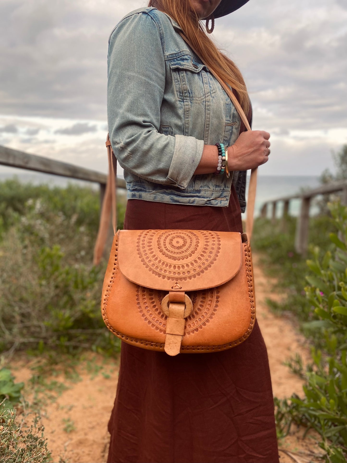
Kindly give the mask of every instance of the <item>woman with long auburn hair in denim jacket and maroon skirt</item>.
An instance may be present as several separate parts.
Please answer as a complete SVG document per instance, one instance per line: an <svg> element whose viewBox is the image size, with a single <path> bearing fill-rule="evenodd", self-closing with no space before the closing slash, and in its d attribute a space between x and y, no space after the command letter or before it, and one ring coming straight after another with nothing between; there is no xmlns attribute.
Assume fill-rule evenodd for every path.
<svg viewBox="0 0 347 463"><path fill-rule="evenodd" d="M247 1L151 0L112 31L108 125L127 181L124 228L242 232L246 171L268 160L270 135L244 131L206 65L233 88L250 120L242 75L199 21ZM229 179L216 143L229 146ZM257 323L243 344L210 354L169 357L122 343L109 431L109 463L278 462Z"/></svg>

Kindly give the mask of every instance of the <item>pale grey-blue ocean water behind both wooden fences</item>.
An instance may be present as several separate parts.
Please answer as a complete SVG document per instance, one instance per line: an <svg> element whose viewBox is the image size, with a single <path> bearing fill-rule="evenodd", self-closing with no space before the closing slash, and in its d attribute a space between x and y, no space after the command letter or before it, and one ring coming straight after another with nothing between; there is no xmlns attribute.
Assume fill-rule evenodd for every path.
<svg viewBox="0 0 347 463"><path fill-rule="evenodd" d="M23 169L17 169L16 174L13 172L0 172L0 181L8 178L13 178L16 175L23 182L31 182L34 184L48 184L50 186L65 187L69 183L78 185L89 185L92 188L99 188L96 183L90 183L81 180L74 180L57 175L41 174L39 172L30 172ZM249 180L249 178L248 178ZM292 175L258 175L257 195L255 200L255 216L260 214L261 206L268 200L274 200L282 196L296 194L303 188L316 188L319 186L318 177L314 176L292 176ZM279 203L277 214L281 214L282 204ZM292 200L290 204L290 214L296 216L300 210L300 200ZM312 213L315 212L314 206ZM268 208L270 214L270 207Z"/></svg>

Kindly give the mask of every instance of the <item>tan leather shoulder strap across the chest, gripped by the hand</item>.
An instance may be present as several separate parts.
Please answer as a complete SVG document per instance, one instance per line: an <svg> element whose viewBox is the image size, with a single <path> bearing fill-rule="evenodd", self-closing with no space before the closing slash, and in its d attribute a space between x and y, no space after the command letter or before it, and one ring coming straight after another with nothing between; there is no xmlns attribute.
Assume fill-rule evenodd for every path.
<svg viewBox="0 0 347 463"><path fill-rule="evenodd" d="M200 60L204 63L204 60L201 58L201 56L199 56L196 50L194 50L194 48L192 47L192 45L190 44L186 36L182 34L182 32L179 32L179 34L183 38L183 40L190 46L190 48L194 51L194 53L200 58ZM204 64L205 66L207 66L206 63ZM224 88L226 93L229 95L231 101L234 103L236 111L239 113L244 125L246 126L246 129L251 130L246 114L243 112L243 109L240 103L237 101L237 98L233 94L230 87L212 69L209 68L209 71L211 72L212 75L214 75L214 77L216 77L217 81L221 84L221 86ZM248 187L246 233L247 233L247 237L249 240L251 239L252 232L253 232L255 193L257 189L257 171L258 171L257 168L251 170L251 178L249 179L249 187Z"/></svg>

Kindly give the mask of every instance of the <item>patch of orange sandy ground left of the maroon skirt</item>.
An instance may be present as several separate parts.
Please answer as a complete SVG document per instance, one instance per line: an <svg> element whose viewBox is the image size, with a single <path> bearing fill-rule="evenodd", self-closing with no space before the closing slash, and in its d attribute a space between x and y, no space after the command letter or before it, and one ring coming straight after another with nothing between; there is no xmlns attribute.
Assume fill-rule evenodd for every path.
<svg viewBox="0 0 347 463"><path fill-rule="evenodd" d="M48 388L30 384L35 361L11 363L16 380L25 382L25 399L31 404L38 400L33 407L40 409L54 463L106 461L107 422L116 396L118 363L118 359L91 354L77 367L78 376L72 381L55 373L46 380Z"/></svg>

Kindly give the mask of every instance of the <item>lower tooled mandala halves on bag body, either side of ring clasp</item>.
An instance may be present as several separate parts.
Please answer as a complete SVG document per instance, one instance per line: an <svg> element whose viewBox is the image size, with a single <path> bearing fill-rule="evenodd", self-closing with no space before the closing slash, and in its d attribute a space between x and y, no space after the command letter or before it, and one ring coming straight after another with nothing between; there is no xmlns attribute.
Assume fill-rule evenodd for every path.
<svg viewBox="0 0 347 463"><path fill-rule="evenodd" d="M145 322L156 331L166 332L167 316L161 312L161 301L167 293L138 286L136 290L137 307ZM219 291L216 288L187 292L193 303L193 310L186 318L185 334L201 330L217 312Z"/></svg>

